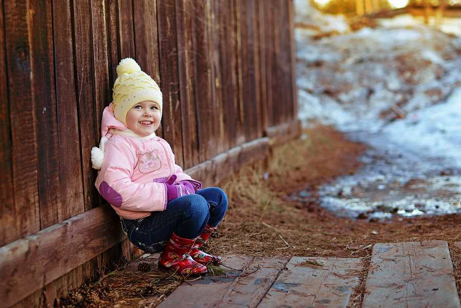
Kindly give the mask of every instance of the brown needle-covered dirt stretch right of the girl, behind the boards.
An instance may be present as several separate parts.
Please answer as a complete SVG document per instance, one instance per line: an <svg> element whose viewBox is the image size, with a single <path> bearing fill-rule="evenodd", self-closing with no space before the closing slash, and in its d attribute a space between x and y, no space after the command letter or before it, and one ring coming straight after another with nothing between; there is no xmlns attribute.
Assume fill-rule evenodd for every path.
<svg viewBox="0 0 461 308"><path fill-rule="evenodd" d="M276 162L269 161L269 178L261 180L261 187L272 191L273 200L269 201L265 213L264 208L261 209L265 204L261 202L254 204L245 196L230 196L230 207L220 227L223 236L216 240L216 252L348 257L366 256L370 250L360 249L377 242L440 239L453 243L460 240L459 214L352 220L337 217L316 201L306 203L289 198L306 189L315 196L324 182L353 173L360 168L357 157L365 150L365 146L345 139L328 127L318 126L308 130L306 135L310 136L309 140L295 140L274 151L272 159L280 160L280 156L289 154L284 153L287 148L299 151L292 154L305 159L286 157L299 162L297 166L290 166L294 168L287 170L283 178L270 171L284 169L284 166L271 166ZM310 143L308 149L303 142ZM242 177L245 179L245 173L248 170L228 180L224 188Z"/></svg>

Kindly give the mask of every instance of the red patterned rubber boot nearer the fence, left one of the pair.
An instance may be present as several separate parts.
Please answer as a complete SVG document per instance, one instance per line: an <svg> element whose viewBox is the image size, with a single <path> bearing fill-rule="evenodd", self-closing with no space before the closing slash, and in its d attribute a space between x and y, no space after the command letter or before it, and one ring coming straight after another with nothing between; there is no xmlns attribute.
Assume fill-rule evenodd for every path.
<svg viewBox="0 0 461 308"><path fill-rule="evenodd" d="M160 254L158 268L183 276L206 274L206 267L195 262L188 254L194 243L195 239L181 238L173 233L166 243L165 250Z"/></svg>

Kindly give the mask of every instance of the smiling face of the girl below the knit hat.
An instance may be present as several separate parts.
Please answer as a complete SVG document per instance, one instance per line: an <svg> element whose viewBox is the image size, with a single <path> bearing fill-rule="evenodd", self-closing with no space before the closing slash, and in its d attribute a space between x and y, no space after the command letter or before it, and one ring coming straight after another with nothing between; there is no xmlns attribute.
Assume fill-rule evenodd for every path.
<svg viewBox="0 0 461 308"><path fill-rule="evenodd" d="M140 136L149 136L160 126L159 106L151 100L138 102L127 113L127 127Z"/></svg>

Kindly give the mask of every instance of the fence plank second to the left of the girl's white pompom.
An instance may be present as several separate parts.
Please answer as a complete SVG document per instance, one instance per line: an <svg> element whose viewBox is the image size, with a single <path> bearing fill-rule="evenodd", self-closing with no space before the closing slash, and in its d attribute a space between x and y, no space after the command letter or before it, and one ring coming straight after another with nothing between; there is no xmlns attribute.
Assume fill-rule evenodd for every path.
<svg viewBox="0 0 461 308"><path fill-rule="evenodd" d="M53 2L53 35L56 83L56 119L59 140L59 194L66 220L85 211L81 169L77 101L74 83L72 28L69 1ZM73 153L69 155L69 153ZM57 193L57 192L54 192Z"/></svg>

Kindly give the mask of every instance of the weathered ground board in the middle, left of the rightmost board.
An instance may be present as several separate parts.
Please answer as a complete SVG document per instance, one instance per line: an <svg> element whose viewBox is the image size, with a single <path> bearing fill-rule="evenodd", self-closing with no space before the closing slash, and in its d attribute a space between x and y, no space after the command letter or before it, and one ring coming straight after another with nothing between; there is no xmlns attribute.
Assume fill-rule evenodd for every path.
<svg viewBox="0 0 461 308"><path fill-rule="evenodd" d="M292 257L258 308L346 307L361 270L358 258Z"/></svg>

